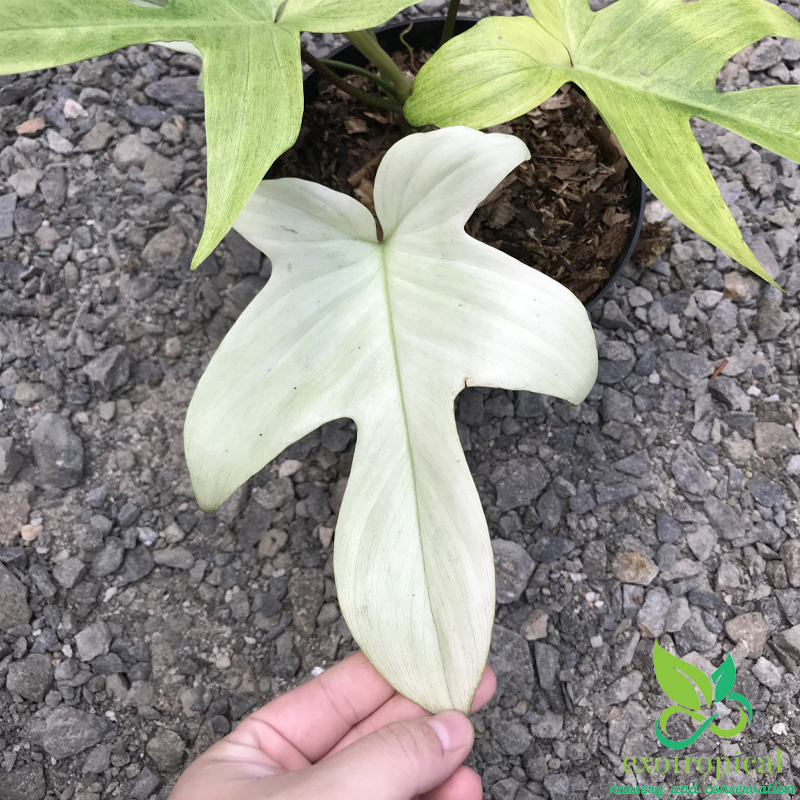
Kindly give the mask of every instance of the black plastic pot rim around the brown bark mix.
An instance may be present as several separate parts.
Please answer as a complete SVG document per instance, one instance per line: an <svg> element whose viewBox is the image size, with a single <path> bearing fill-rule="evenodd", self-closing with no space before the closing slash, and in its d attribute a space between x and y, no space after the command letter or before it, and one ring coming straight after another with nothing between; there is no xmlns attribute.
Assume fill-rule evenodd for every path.
<svg viewBox="0 0 800 800"><path fill-rule="evenodd" d="M469 30L473 25L478 22L477 19L470 17L459 17L456 20L455 35L464 33ZM376 31L378 42L381 47L388 53L396 53L399 50L404 50L405 45L400 41L400 35L408 27L407 22L393 22ZM439 46L439 41L442 38L442 29L444 28L444 17L426 17L414 20L414 27L403 37L405 41L414 49L420 50L435 50ZM356 67L365 67L369 63L366 56L360 53L353 45L346 44L337 48L330 53L326 58L335 59L336 61L344 61L347 64L353 64ZM334 70L340 75L346 74L342 70ZM319 95L319 75L316 72L310 72L303 81L303 88L305 92L306 104L312 102ZM617 276L622 271L622 268L630 261L631 254L633 253L636 242L639 240L639 233L642 230L642 222L644 221L644 205L647 187L642 183L642 179L636 174L633 167L628 165L626 172L628 179L628 202L631 211L631 216L634 224L628 231L628 237L622 247L622 252L617 257L614 264L609 270L611 277L608 283L605 284L593 297L586 301L587 308L591 308L601 297L609 290L611 284L617 279Z"/></svg>

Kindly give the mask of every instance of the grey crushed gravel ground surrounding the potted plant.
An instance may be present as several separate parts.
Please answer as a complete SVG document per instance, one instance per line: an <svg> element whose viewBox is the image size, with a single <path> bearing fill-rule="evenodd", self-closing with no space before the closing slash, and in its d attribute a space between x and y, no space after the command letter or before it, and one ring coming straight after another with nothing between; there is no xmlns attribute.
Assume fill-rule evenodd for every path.
<svg viewBox="0 0 800 800"><path fill-rule="evenodd" d="M192 495L187 403L270 274L233 234L188 269L205 206L197 71L131 47L0 78L3 800L165 798L237 720L355 648L331 566L349 421L216 517ZM800 45L749 48L721 81L800 83ZM626 756L673 753L653 732L669 705L655 636L709 674L731 652L754 709L693 755L780 748L782 782L800 770L800 173L697 133L786 293L651 201L670 246L593 311L586 402L457 402L496 542L499 689L470 758L494 800L593 800L632 780Z"/></svg>

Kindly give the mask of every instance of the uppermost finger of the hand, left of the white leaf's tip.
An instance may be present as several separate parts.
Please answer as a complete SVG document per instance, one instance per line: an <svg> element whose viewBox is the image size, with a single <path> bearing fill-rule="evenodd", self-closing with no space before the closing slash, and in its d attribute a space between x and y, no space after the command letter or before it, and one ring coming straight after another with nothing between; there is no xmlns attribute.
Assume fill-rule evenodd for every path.
<svg viewBox="0 0 800 800"><path fill-rule="evenodd" d="M300 769L395 693L367 657L356 653L255 711L231 736L246 738L286 769Z"/></svg>

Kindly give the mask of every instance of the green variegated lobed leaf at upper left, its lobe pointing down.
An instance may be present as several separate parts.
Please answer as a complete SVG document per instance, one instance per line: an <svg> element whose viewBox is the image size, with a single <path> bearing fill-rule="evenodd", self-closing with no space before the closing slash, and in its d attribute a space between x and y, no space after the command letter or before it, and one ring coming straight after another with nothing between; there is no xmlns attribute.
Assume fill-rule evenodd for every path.
<svg viewBox="0 0 800 800"><path fill-rule="evenodd" d="M208 207L192 261L197 266L297 138L303 113L300 31L371 27L408 5L407 0L0 0L0 74L69 64L147 42L200 53Z"/></svg>

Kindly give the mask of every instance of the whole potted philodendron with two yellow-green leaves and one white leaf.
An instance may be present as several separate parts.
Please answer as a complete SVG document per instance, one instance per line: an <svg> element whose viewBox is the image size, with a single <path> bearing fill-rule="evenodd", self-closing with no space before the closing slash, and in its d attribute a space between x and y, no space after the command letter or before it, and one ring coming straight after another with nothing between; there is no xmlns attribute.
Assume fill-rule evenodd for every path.
<svg viewBox="0 0 800 800"><path fill-rule="evenodd" d="M200 505L215 511L289 444L350 417L358 443L334 570L354 638L430 711L469 711L494 616L486 521L453 416L468 385L580 402L597 354L565 288L464 226L521 161L519 139L484 134L565 82L579 84L650 189L689 227L772 282L705 165L690 118L800 159L800 88L720 94L725 61L800 24L766 0L529 0L534 19L490 18L409 77L362 28L407 0L0 0L0 73L155 42L203 59L208 211L193 266L234 227L273 275L201 379L185 428ZM444 40L458 0L451 0ZM381 94L341 78L300 32L345 32ZM412 125L375 180L372 214L349 196L261 183L296 140L301 60ZM410 95L410 99L409 99ZM467 126L467 127L460 127ZM405 126L408 129L408 126ZM410 131L410 129L408 129Z"/></svg>

